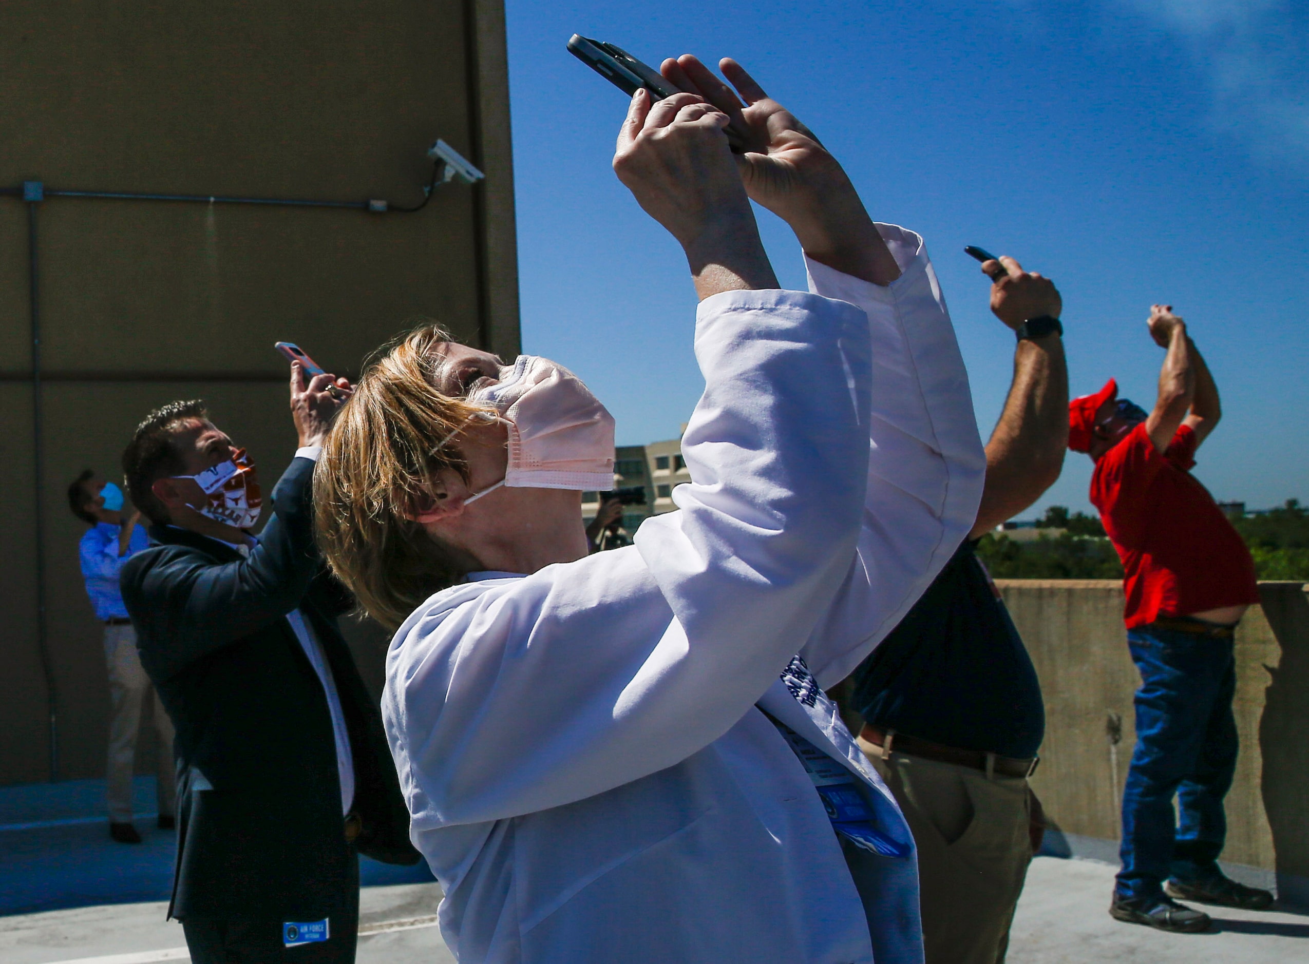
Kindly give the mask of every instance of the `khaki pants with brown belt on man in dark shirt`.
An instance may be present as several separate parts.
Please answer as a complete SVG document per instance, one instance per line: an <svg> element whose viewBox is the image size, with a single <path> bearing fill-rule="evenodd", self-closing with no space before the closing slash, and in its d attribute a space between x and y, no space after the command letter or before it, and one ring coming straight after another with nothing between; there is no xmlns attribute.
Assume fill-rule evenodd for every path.
<svg viewBox="0 0 1309 964"><path fill-rule="evenodd" d="M927 964L1000 964L1031 862L1026 778L859 746L914 832Z"/></svg>

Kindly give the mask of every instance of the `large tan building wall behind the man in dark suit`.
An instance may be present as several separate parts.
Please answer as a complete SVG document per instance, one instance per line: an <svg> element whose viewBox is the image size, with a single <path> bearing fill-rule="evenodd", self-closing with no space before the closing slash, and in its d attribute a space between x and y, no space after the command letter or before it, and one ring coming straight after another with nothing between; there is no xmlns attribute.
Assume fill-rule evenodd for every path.
<svg viewBox="0 0 1309 964"><path fill-rule="evenodd" d="M518 305L499 0L12 0L0 63L3 785L103 774L102 628L64 500L81 468L118 477L145 412L203 398L271 488L295 449L274 341L356 374L431 317L513 357ZM437 137L486 179L397 212Z"/></svg>

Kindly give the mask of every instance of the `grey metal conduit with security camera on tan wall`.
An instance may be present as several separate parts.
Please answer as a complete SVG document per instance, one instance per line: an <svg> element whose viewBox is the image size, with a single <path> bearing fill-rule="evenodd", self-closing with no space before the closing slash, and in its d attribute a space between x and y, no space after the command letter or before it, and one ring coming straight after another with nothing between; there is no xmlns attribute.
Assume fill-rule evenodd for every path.
<svg viewBox="0 0 1309 964"><path fill-rule="evenodd" d="M308 198L241 198L230 195L202 195L202 194L151 194L139 191L77 191L77 190L62 190L50 188L41 181L24 181L20 187L0 187L0 198L17 198L27 205L27 290L29 290L29 317L30 317L30 332L31 332L31 390L33 390L33 407L31 407L31 429L33 429L33 489L35 494L35 540L37 540L37 646L41 650L41 668L46 680L46 704L50 717L50 782L59 780L59 698L55 687L55 671L54 662L50 654L50 641L46 628L46 532L45 532L45 498L42 496L42 479L45 477L45 443L42 441L43 433L43 404L42 404L42 369L41 369L41 298L38 288L38 251L37 251L37 208L45 201L52 199L72 199L72 200L123 200L123 201L168 201L175 204L257 204L263 207L283 207L283 208L344 208L352 211L364 211L372 215L412 215L427 207L428 200L431 200L432 194L439 184L449 183L453 175L458 175L461 181L473 183L482 178L482 173L463 161L445 141L437 141L437 145L445 148L449 152L446 156L444 152L437 152L437 148L432 148L428 152L428 157L432 158L432 177L428 183L423 187L423 200L412 207L403 207L391 204L390 201L370 198L361 201L340 201L340 200L318 200ZM461 171L456 166L456 158L463 161L476 177L473 178L467 173ZM452 174L453 171L453 174ZM445 174L442 178L441 175ZM478 245L476 260L479 272L482 269L483 251L482 246ZM479 303L479 309L483 306ZM478 317L478 337L479 341L486 340L486 320L480 315ZM8 378L4 381L9 381ZM26 379L24 379L26 381Z"/></svg>

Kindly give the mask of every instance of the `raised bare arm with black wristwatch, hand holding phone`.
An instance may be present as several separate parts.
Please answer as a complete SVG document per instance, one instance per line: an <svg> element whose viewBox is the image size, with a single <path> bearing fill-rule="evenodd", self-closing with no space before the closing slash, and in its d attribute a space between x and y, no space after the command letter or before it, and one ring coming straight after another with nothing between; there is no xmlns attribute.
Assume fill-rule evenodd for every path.
<svg viewBox="0 0 1309 964"><path fill-rule="evenodd" d="M987 262L982 271L995 277L991 311L1014 331L1033 318L1058 318L1063 310L1054 283L1025 272L1012 258ZM1054 485L1067 446L1068 365L1063 337L1050 331L1020 340L1013 352L1013 382L986 446L986 485L969 538L1012 519Z"/></svg>

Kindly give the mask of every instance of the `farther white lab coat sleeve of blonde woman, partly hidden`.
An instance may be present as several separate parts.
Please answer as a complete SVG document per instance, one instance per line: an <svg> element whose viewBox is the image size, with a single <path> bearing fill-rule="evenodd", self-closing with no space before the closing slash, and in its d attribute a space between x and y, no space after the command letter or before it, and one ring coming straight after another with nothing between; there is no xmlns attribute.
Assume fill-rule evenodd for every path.
<svg viewBox="0 0 1309 964"><path fill-rule="evenodd" d="M877 229L902 272L890 285L806 259L810 289L861 307L872 336L859 547L801 650L823 687L859 666L941 572L973 528L986 477L967 371L923 239Z"/></svg>

